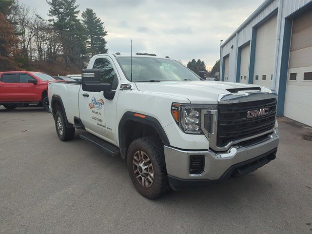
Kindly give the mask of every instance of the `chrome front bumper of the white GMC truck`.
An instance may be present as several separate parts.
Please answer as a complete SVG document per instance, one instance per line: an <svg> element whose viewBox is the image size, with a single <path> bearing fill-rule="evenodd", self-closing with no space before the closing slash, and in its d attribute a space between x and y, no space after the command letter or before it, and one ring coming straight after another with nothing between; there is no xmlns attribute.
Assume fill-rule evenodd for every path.
<svg viewBox="0 0 312 234"><path fill-rule="evenodd" d="M244 175L274 159L278 142L279 137L275 130L260 141L232 146L226 152L191 151L164 146L170 185L174 190L179 190L183 185L193 187L207 182L228 180L234 177L233 174ZM204 156L205 165L201 174L190 174L190 156L194 155Z"/></svg>

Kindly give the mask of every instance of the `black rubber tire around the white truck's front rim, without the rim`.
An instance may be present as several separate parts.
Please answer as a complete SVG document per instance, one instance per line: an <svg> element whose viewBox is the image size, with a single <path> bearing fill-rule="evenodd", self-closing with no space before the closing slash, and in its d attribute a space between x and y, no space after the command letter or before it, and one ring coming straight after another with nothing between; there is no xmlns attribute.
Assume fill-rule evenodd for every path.
<svg viewBox="0 0 312 234"><path fill-rule="evenodd" d="M142 177L140 177L140 181L137 179L137 175L140 174L139 170L136 170L137 167L134 162L137 162L136 158L138 152L145 153L148 156L147 160L150 160L153 169L153 182L149 187L143 186L142 183L145 185L150 183L147 179L145 182L142 182ZM142 154L142 153L141 153ZM134 159L134 157L136 158ZM141 195L145 196L148 199L156 199L161 195L166 194L170 191L169 182L167 178L167 171L166 171L166 163L165 163L165 156L164 156L164 149L163 144L161 141L155 137L141 137L134 140L128 149L127 153L127 167L130 178L132 180L133 185L137 189ZM149 170L148 167L147 170ZM138 169L138 167L137 167ZM137 173L135 173L137 171ZM142 170L141 170L142 171ZM143 175L143 174L140 174ZM145 174L144 174L145 175ZM148 174L147 174L148 175ZM148 182L146 182L148 181Z"/></svg>

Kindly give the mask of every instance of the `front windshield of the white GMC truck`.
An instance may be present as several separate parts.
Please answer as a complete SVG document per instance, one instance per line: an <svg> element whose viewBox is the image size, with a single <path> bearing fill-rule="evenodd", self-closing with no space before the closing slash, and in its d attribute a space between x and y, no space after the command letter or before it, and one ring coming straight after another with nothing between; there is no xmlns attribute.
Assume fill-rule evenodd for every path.
<svg viewBox="0 0 312 234"><path fill-rule="evenodd" d="M131 58L117 57L128 80L131 80ZM192 71L172 59L132 57L132 81L200 80Z"/></svg>

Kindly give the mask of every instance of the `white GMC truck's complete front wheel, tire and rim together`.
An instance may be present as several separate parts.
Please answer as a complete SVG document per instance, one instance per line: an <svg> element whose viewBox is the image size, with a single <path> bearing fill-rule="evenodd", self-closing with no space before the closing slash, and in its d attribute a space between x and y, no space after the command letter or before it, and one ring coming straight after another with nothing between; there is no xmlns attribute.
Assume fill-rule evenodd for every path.
<svg viewBox="0 0 312 234"><path fill-rule="evenodd" d="M128 149L127 166L137 192L146 198L156 199L170 190L163 144L157 138L134 140Z"/></svg>

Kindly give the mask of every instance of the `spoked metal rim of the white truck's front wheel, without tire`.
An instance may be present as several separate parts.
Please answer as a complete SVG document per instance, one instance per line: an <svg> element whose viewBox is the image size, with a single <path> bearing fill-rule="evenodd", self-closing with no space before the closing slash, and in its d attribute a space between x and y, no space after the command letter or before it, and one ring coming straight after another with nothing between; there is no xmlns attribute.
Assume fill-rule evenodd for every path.
<svg viewBox="0 0 312 234"><path fill-rule="evenodd" d="M137 181L145 188L150 187L154 180L154 168L150 158L139 150L133 156L133 171Z"/></svg>

